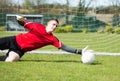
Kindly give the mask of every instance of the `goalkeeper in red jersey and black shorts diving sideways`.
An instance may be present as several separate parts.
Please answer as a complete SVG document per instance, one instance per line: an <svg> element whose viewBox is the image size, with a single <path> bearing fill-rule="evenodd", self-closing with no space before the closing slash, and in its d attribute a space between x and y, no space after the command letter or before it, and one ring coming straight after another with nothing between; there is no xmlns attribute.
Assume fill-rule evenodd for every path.
<svg viewBox="0 0 120 81"><path fill-rule="evenodd" d="M46 45L53 45L58 49L75 54L82 54L87 50L87 47L82 50L68 47L52 34L59 24L57 19L49 20L47 22L47 26L37 22L30 22L24 18L24 16L17 15L16 19L21 26L24 26L24 28L29 31L16 36L0 38L0 50L8 49L5 56L0 56L1 61L18 61L25 52L41 48Z"/></svg>

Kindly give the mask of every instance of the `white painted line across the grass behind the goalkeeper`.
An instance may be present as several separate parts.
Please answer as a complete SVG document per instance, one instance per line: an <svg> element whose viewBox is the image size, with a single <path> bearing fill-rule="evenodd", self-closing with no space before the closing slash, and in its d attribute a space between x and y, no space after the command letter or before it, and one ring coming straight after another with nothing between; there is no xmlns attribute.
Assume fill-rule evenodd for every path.
<svg viewBox="0 0 120 81"><path fill-rule="evenodd" d="M0 53L6 53L7 50L1 51ZM73 54L65 51L48 51L48 50L35 50L27 52L27 54ZM120 56L120 53L107 53L107 52L95 52L95 55L109 55L109 56Z"/></svg>

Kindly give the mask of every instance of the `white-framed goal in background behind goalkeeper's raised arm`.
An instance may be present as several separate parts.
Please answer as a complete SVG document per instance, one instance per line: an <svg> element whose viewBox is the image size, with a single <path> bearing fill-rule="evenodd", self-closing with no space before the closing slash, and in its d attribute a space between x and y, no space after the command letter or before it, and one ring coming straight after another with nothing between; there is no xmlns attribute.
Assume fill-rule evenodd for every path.
<svg viewBox="0 0 120 81"><path fill-rule="evenodd" d="M25 31L25 29L16 21L16 15L23 15L27 20L43 23L43 15L37 14L6 14L6 29L7 31Z"/></svg>

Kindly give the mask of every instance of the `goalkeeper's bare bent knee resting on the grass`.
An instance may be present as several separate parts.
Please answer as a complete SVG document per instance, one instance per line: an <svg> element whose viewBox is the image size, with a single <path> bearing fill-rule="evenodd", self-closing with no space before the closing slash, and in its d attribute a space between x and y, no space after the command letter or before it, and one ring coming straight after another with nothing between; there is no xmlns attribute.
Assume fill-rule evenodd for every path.
<svg viewBox="0 0 120 81"><path fill-rule="evenodd" d="M18 61L20 59L20 56L18 53L14 52L14 51L10 51L8 53L8 56L5 60L5 62L15 62Z"/></svg>

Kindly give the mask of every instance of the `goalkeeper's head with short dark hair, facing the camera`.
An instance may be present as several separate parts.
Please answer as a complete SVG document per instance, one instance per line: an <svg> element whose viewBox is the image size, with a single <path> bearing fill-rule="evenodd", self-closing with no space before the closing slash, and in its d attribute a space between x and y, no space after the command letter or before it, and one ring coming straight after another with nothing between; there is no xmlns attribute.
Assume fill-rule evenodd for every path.
<svg viewBox="0 0 120 81"><path fill-rule="evenodd" d="M50 20L48 23L47 23L47 32L48 33L52 33L58 26L58 23L55 21L55 20Z"/></svg>

